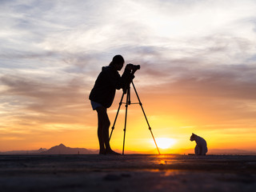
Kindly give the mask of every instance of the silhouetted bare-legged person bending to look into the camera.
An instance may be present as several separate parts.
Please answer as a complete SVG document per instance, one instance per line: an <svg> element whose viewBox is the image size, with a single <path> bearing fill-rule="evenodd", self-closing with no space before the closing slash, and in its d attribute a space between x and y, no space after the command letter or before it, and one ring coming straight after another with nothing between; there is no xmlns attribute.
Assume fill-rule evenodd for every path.
<svg viewBox="0 0 256 192"><path fill-rule="evenodd" d="M126 84L134 78L129 65L126 66L122 77L118 74L118 71L122 70L124 62L121 55L115 55L109 66L102 66L102 72L98 75L90 92L91 106L98 114L99 154L118 154L110 147L110 119L106 110L114 101L115 91L125 88Z"/></svg>

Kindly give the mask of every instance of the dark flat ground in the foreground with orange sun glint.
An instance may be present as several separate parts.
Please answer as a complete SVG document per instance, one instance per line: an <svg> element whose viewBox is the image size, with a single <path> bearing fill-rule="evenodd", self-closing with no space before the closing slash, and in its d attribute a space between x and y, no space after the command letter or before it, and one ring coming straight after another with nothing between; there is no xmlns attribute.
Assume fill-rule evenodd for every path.
<svg viewBox="0 0 256 192"><path fill-rule="evenodd" d="M2 155L0 191L255 191L256 156Z"/></svg>

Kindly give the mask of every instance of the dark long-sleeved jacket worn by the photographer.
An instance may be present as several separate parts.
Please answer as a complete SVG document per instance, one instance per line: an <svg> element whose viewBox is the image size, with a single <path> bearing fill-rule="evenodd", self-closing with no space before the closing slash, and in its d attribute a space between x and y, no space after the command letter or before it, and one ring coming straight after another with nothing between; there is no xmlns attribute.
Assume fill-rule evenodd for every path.
<svg viewBox="0 0 256 192"><path fill-rule="evenodd" d="M130 78L134 78L134 75L130 74L130 70L125 70L120 77L118 71L114 70L112 66L103 66L94 88L90 91L90 100L109 108L114 101L115 90L124 88Z"/></svg>

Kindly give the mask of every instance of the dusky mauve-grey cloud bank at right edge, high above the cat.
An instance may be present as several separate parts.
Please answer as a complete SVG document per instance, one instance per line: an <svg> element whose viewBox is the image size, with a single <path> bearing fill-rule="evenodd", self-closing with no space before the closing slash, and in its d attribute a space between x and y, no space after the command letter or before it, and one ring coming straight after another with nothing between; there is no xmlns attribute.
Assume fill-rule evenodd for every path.
<svg viewBox="0 0 256 192"><path fill-rule="evenodd" d="M181 86L194 92L194 95L200 97L200 94L207 97L226 97L230 99L250 99L254 100L256 91L254 66L215 66L209 70L192 70L181 78L177 78L174 86ZM198 92L198 94L196 94Z"/></svg>

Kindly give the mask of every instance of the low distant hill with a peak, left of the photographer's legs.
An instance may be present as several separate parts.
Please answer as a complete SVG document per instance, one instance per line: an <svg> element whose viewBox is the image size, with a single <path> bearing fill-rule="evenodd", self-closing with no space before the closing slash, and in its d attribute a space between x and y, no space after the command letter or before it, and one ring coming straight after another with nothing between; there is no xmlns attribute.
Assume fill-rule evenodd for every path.
<svg viewBox="0 0 256 192"><path fill-rule="evenodd" d="M42 151L40 154L98 154L98 150L87 150L85 148L70 148L60 144L53 146L50 150Z"/></svg>

